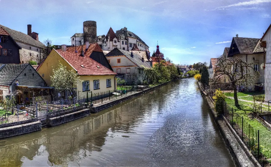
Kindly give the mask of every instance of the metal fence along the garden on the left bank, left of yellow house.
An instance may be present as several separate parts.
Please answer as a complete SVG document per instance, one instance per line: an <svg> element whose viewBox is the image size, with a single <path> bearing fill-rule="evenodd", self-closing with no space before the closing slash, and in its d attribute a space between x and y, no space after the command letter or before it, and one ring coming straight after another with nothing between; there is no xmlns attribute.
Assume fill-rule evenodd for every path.
<svg viewBox="0 0 271 167"><path fill-rule="evenodd" d="M85 97L77 96L61 101L43 101L31 105L2 108L0 109L0 124L43 118L47 115L76 110L85 107L85 100Z"/></svg>

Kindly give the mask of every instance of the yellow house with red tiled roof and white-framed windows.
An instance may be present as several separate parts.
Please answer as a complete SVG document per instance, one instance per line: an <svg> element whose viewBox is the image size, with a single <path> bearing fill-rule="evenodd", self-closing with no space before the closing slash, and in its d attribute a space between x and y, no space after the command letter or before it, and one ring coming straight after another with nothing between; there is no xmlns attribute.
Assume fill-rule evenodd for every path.
<svg viewBox="0 0 271 167"><path fill-rule="evenodd" d="M76 49L75 46L66 48L66 45L62 45L61 49L53 49L42 61L36 70L45 82L48 85L52 84L50 75L53 68L57 68L61 62L68 70L74 70L78 74L77 93L86 91L99 93L116 89L116 73L105 67L108 62L100 46L97 43L89 45L86 42L86 45L76 47ZM105 63L105 66L90 58L93 54L102 55L100 60ZM111 68L110 65L109 68Z"/></svg>

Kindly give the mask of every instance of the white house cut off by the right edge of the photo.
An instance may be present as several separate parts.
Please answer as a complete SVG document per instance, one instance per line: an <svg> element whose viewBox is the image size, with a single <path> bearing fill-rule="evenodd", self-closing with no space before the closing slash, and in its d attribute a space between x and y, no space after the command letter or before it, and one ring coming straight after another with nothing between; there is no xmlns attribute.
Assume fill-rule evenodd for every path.
<svg viewBox="0 0 271 167"><path fill-rule="evenodd" d="M265 48L266 63L263 64L265 70L265 101L271 100L271 24L261 38L261 46ZM263 54L264 56L264 54Z"/></svg>

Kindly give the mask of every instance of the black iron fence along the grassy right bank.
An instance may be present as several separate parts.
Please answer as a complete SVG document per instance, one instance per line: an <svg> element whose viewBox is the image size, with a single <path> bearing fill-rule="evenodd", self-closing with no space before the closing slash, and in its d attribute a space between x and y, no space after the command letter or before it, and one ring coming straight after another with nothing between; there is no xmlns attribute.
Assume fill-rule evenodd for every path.
<svg viewBox="0 0 271 167"><path fill-rule="evenodd" d="M223 106L223 115L260 165L265 166L267 161L262 154L262 147L260 146L260 131L253 128L243 116L236 113L226 103Z"/></svg>

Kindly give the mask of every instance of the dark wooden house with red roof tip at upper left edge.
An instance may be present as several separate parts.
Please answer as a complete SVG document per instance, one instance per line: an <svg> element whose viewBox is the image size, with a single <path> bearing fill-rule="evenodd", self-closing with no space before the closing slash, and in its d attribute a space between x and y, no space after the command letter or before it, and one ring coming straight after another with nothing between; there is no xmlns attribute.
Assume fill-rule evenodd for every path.
<svg viewBox="0 0 271 167"><path fill-rule="evenodd" d="M5 29L0 27L0 66L6 63L20 63L21 47L14 41Z"/></svg>

